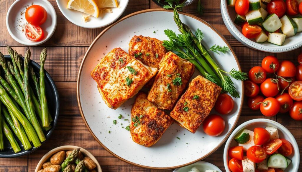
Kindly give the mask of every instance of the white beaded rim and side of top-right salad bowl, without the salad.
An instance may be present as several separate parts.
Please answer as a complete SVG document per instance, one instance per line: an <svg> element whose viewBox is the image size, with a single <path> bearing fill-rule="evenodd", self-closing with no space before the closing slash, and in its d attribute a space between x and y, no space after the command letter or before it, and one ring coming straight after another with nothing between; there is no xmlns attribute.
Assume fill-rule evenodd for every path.
<svg viewBox="0 0 302 172"><path fill-rule="evenodd" d="M285 39L283 45L275 45L269 42L257 43L254 39L248 39L242 34L240 26L237 26L233 20L236 16L236 11L234 7L229 7L226 5L226 0L221 0L220 10L224 24L229 32L243 45L250 48L257 49L264 52L288 52L302 46L302 32L297 33L295 36L291 36Z"/></svg>

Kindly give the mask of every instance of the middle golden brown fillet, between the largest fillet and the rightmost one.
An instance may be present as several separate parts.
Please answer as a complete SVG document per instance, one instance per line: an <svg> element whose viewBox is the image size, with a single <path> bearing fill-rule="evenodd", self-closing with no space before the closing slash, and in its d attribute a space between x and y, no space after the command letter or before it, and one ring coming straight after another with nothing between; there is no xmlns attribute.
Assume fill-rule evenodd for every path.
<svg viewBox="0 0 302 172"><path fill-rule="evenodd" d="M168 52L151 87L148 100L161 109L171 110L194 73L194 64Z"/></svg>

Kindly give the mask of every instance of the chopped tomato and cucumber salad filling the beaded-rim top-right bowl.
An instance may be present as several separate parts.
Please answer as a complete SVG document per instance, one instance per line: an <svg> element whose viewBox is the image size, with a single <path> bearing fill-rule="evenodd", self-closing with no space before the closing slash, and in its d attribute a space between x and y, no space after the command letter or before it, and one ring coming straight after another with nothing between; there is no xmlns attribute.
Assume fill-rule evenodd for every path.
<svg viewBox="0 0 302 172"><path fill-rule="evenodd" d="M285 39L302 32L302 0L226 0L234 7L234 23L246 38L283 45Z"/></svg>

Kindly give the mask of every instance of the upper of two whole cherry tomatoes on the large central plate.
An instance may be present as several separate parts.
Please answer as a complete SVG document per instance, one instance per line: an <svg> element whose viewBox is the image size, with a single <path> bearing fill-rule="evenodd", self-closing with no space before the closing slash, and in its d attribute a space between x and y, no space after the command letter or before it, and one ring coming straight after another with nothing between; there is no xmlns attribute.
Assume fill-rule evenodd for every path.
<svg viewBox="0 0 302 172"><path fill-rule="evenodd" d="M227 94L220 94L215 103L215 110L220 114L228 114L234 108L234 100Z"/></svg>

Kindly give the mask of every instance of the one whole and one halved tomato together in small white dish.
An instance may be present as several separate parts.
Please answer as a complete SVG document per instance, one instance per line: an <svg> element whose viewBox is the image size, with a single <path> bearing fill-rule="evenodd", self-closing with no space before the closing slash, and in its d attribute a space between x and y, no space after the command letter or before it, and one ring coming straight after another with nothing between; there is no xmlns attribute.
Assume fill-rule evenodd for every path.
<svg viewBox="0 0 302 172"><path fill-rule="evenodd" d="M25 11L25 36L31 41L40 41L44 38L44 31L40 25L47 19L46 10L40 5L31 5Z"/></svg>

